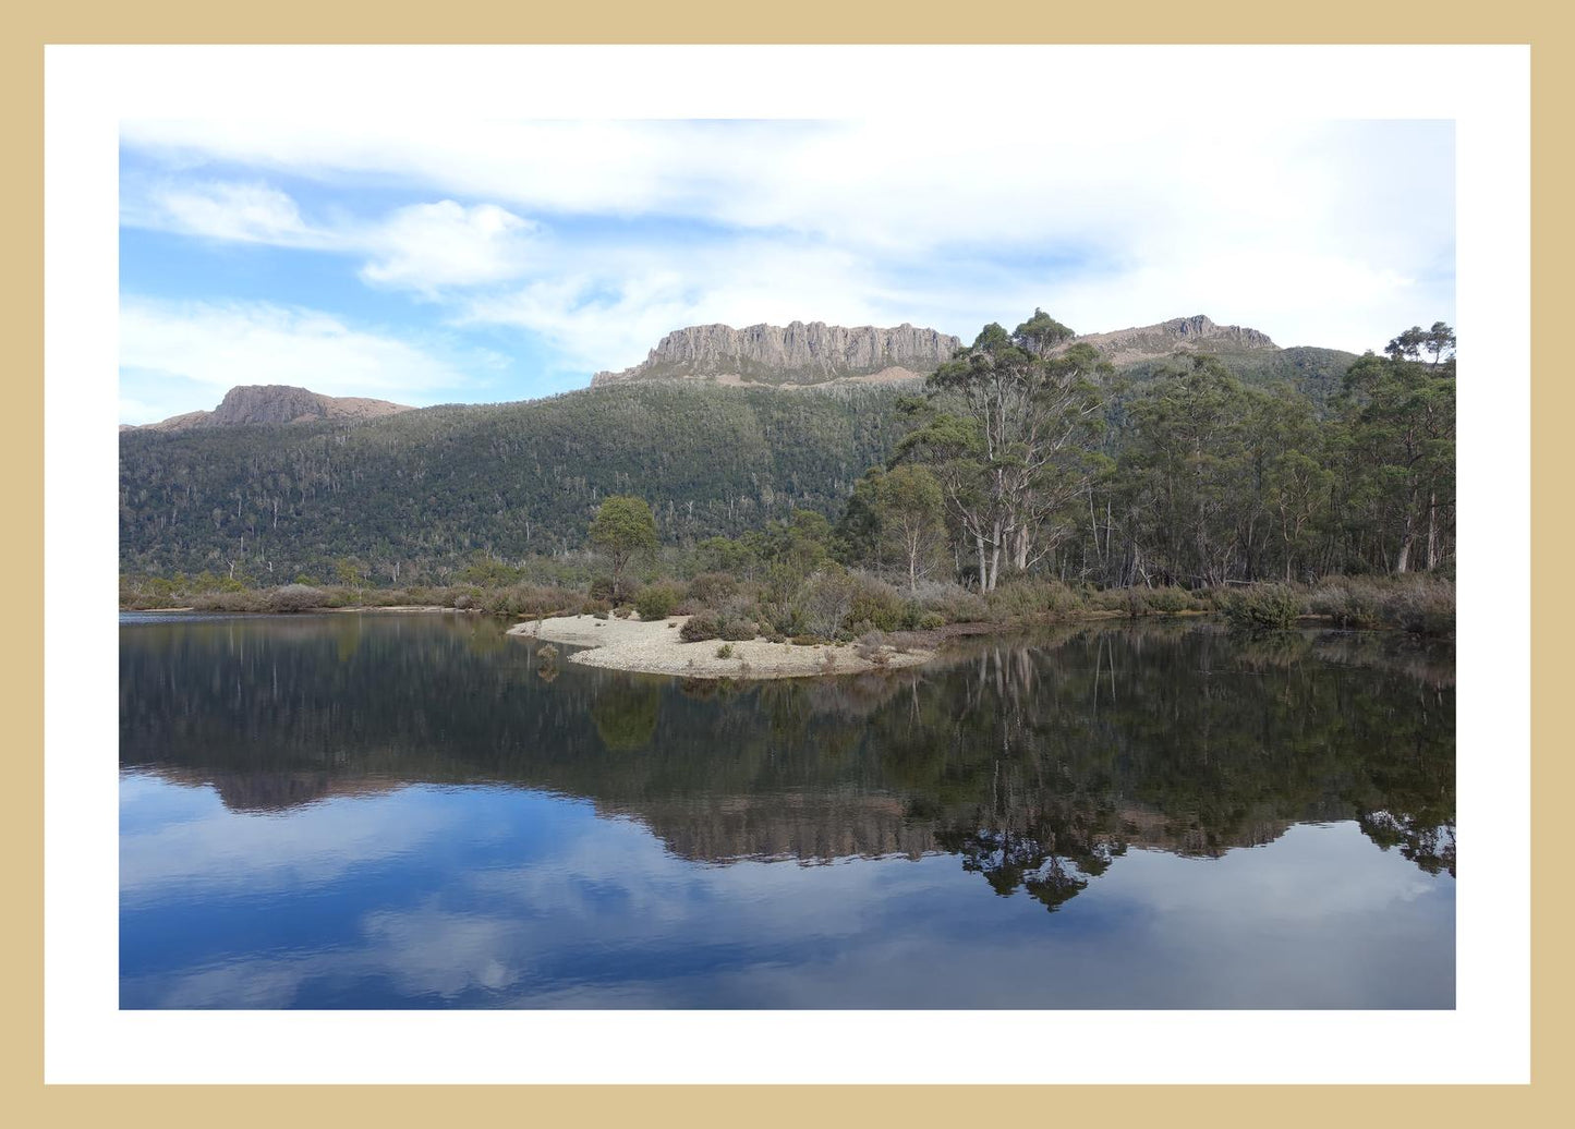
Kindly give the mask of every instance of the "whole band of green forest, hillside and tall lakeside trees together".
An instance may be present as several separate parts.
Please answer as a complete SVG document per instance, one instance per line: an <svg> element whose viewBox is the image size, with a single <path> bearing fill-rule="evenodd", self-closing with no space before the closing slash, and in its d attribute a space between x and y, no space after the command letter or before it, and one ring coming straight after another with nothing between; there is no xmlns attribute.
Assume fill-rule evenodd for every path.
<svg viewBox="0 0 1575 1129"><path fill-rule="evenodd" d="M748 575L819 515L850 567L1211 587L1452 575L1454 332L1114 370L1043 312L923 387L635 383L364 424L121 436L124 573L450 583L589 561L610 496ZM811 523L813 524L813 523Z"/></svg>

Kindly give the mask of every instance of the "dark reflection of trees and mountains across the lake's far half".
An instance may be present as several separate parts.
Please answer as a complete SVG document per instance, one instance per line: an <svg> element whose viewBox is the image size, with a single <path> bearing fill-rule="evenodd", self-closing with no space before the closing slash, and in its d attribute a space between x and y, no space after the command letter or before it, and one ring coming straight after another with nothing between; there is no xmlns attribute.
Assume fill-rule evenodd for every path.
<svg viewBox="0 0 1575 1129"><path fill-rule="evenodd" d="M1356 820L1455 872L1447 646L1082 625L754 685L536 650L452 617L126 627L121 764L247 811L408 783L547 789L702 861L948 852L1052 910L1132 847L1217 857L1298 822Z"/></svg>

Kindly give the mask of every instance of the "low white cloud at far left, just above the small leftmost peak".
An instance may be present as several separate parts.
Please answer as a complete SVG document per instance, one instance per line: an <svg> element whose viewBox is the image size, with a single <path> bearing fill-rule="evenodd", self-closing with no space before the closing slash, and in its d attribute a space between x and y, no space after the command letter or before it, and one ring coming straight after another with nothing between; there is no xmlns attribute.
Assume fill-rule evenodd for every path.
<svg viewBox="0 0 1575 1129"><path fill-rule="evenodd" d="M398 337L353 329L320 310L269 302L161 302L128 298L120 310L123 413L165 411L161 386L183 381L214 391L236 384L298 384L329 395L436 403L474 387L472 375L496 357L472 354L465 367ZM191 411L191 400L181 400ZM172 413L167 413L172 414ZM162 419L154 416L153 419ZM128 419L124 424L151 422Z"/></svg>

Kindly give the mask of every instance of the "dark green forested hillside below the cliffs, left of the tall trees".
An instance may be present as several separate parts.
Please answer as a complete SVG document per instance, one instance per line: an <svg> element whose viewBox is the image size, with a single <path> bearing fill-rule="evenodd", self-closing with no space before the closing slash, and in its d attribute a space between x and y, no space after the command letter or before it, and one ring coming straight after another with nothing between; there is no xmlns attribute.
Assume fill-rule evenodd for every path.
<svg viewBox="0 0 1575 1129"><path fill-rule="evenodd" d="M841 512L901 420L896 392L616 384L550 400L120 438L121 568L441 578L584 543L608 494L650 502L663 540Z"/></svg>

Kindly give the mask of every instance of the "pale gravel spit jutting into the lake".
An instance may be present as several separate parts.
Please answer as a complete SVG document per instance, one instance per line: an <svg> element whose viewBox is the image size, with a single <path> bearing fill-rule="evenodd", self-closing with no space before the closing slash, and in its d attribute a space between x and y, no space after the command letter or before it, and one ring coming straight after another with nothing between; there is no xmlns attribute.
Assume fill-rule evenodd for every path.
<svg viewBox="0 0 1575 1129"><path fill-rule="evenodd" d="M507 635L565 647L583 647L569 655L570 663L633 674L671 674L685 679L813 679L838 674L866 674L921 666L934 650L879 647L871 658L850 644L814 644L754 639L702 639L684 642L679 631L688 616L668 619L597 619L594 616L550 616L515 624ZM728 649L728 657L717 652Z"/></svg>

